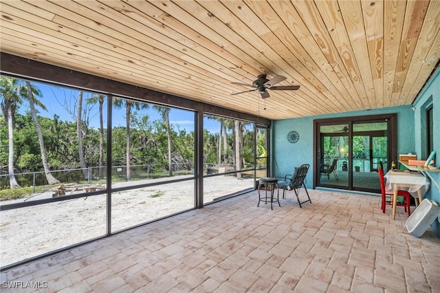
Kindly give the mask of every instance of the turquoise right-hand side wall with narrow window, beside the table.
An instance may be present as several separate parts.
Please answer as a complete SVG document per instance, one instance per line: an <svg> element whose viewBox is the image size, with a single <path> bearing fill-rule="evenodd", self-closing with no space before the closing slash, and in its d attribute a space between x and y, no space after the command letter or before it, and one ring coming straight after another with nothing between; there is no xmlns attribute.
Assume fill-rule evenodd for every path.
<svg viewBox="0 0 440 293"><path fill-rule="evenodd" d="M425 85L417 100L414 103L415 108L415 149L416 153L421 153L421 160L428 158L429 153L426 151L426 109L432 105L433 134L434 134L434 151L437 152L435 157L436 166L440 166L440 67L432 74L430 80ZM430 175L440 184L440 173L430 172ZM431 182L431 188L426 193L426 197L440 204L440 190ZM440 216L440 215L439 215ZM440 221L440 218L439 218ZM437 236L440 237L440 223L434 221L432 224Z"/></svg>

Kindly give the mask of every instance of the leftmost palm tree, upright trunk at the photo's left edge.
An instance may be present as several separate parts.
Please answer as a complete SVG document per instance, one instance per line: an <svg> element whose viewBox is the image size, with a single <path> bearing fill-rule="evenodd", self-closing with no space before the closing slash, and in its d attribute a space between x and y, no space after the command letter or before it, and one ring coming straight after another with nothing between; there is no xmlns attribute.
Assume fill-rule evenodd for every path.
<svg viewBox="0 0 440 293"><path fill-rule="evenodd" d="M8 173L10 188L20 188L14 175L14 115L17 104L20 104L21 98L18 94L19 80L17 78L0 77L0 93L1 93L1 111L5 120L8 122Z"/></svg>

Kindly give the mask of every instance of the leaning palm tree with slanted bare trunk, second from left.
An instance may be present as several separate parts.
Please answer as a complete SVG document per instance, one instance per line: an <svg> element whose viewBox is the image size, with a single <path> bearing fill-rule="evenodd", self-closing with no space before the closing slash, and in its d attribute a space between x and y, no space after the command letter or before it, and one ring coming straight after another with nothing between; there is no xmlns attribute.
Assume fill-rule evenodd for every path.
<svg viewBox="0 0 440 293"><path fill-rule="evenodd" d="M44 140L43 140L43 132L41 131L39 119L36 117L36 111L35 111L35 104L39 105L41 109L46 110L46 106L40 102L39 100L36 100L34 96L41 96L41 91L37 89L36 87L32 87L30 82L28 80L25 81L26 88L21 87L21 96L27 96L29 100L30 105L30 113L32 115L32 119L34 120L35 129L36 129L36 135L39 138L39 144L40 144L40 151L41 151L41 161L43 162L43 169L44 173L46 175L46 180L48 184L58 184L60 183L59 180L57 180L52 173L50 173L49 164L47 163L47 154L46 154L46 148L44 146Z"/></svg>

